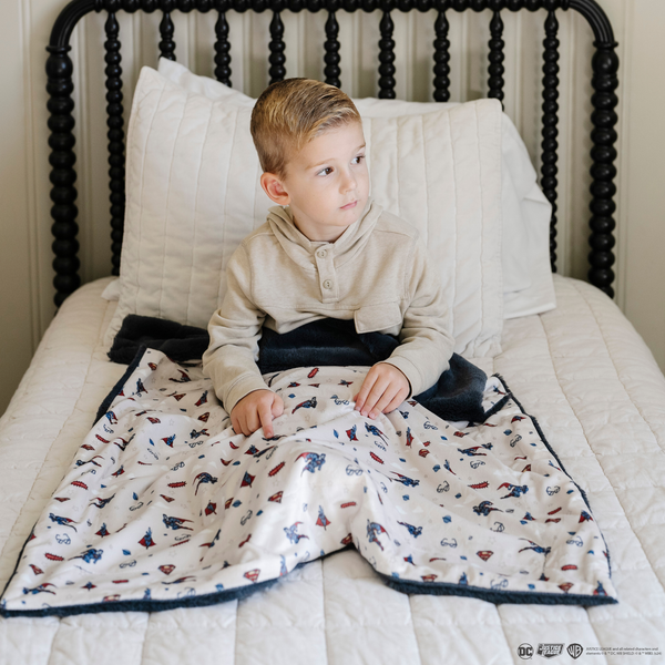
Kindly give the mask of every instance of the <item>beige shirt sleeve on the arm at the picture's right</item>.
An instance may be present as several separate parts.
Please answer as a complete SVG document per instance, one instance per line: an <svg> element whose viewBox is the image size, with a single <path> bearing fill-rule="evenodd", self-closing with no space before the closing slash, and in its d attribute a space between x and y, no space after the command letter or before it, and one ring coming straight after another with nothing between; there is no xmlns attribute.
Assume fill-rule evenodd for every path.
<svg viewBox="0 0 665 665"><path fill-rule="evenodd" d="M443 299L441 279L418 239L413 269L406 276L410 303L399 332L400 346L383 362L397 367L409 380L412 395L433 386L450 367L454 339L449 332L450 311Z"/></svg>

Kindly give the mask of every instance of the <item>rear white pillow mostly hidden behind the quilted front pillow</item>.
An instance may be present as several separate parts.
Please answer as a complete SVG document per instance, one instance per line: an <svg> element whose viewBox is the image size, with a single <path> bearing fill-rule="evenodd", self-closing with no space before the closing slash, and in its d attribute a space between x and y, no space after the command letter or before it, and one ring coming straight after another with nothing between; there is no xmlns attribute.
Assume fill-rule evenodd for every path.
<svg viewBox="0 0 665 665"><path fill-rule="evenodd" d="M211 100L225 100L253 108L255 100L214 79L197 76L186 66L160 59L158 71L185 90ZM403 102L374 98L354 100L362 117L396 117L436 113L456 103ZM515 318L540 314L555 307L554 283L550 269L550 218L552 206L538 186L536 173L526 146L511 119L501 116L501 207L503 236L503 316ZM381 196L378 196L381 200Z"/></svg>

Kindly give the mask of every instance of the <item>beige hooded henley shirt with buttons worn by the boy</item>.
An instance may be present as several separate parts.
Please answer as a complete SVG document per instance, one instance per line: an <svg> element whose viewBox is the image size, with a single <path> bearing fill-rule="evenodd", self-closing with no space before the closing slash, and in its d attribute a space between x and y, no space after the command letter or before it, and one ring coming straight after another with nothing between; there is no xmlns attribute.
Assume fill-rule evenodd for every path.
<svg viewBox="0 0 665 665"><path fill-rule="evenodd" d="M411 395L448 369L450 315L427 249L416 228L371 201L335 243L309 241L288 207L272 207L226 270L203 368L228 412L249 392L269 389L256 366L262 326L288 332L337 318L354 319L358 332L395 335L400 346L385 362L406 375Z"/></svg>

